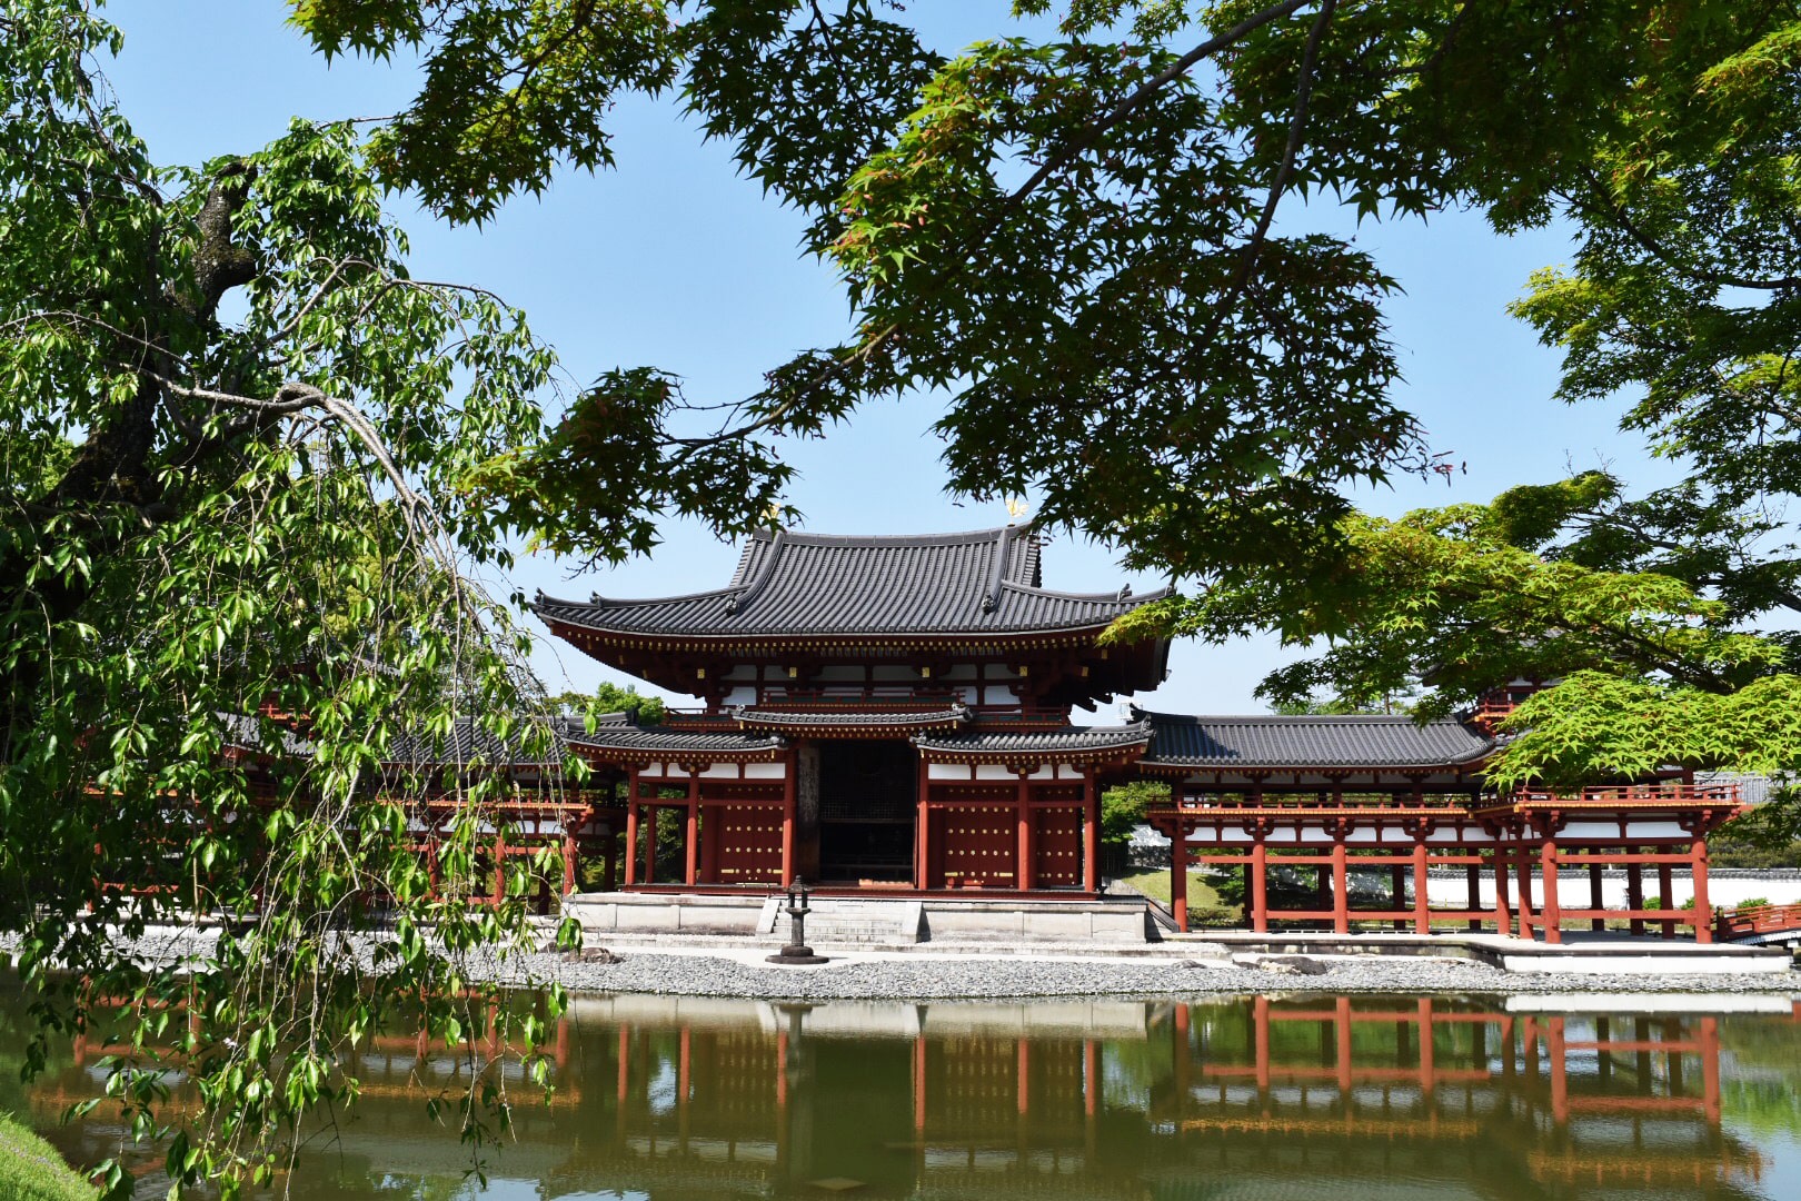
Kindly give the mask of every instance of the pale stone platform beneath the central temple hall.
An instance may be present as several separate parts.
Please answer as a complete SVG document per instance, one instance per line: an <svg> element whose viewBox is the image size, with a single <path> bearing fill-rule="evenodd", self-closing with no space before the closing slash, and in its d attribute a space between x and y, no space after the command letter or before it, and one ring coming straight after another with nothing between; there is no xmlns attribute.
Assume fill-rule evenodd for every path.
<svg viewBox="0 0 1801 1201"><path fill-rule="evenodd" d="M672 935L780 945L783 898L767 893L573 893L564 913L589 935ZM818 947L904 947L926 942L1144 945L1153 940L1144 898L1003 897L809 898L807 942Z"/></svg>

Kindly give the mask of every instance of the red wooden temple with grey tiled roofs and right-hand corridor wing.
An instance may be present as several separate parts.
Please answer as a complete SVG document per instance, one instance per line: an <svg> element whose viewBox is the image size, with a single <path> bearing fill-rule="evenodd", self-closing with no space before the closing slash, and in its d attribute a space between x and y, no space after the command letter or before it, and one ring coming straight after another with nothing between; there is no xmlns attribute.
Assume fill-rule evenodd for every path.
<svg viewBox="0 0 1801 1201"><path fill-rule="evenodd" d="M1426 724L1136 708L1129 720L1079 722L1077 709L1163 681L1167 641L1102 634L1165 592L1045 589L1041 549L1019 526L773 529L747 540L715 591L540 596L537 614L564 641L701 702L656 726L621 713L567 735L603 780L625 783L620 888L767 893L805 879L848 895L1099 898L1100 792L1149 778L1172 792L1149 819L1176 850L1180 927L1180 868L1214 864L1244 870L1257 931L1491 924L1556 942L1565 920L1612 918L1709 936L1706 837L1740 810L1736 787L1673 771L1576 796L1500 796L1482 765L1524 681L1464 720ZM666 810L679 814L661 823L661 837L674 828L681 841L675 879L656 866ZM1432 908L1426 873L1446 866L1464 870L1468 900ZM1626 911L1601 906L1608 866L1628 871ZM1693 871L1693 909L1673 906L1677 866ZM1644 868L1657 871L1655 898ZM1389 898L1356 902L1353 871L1383 875ZM1587 875L1588 904L1560 891L1570 871ZM1299 898L1297 877L1313 882Z"/></svg>

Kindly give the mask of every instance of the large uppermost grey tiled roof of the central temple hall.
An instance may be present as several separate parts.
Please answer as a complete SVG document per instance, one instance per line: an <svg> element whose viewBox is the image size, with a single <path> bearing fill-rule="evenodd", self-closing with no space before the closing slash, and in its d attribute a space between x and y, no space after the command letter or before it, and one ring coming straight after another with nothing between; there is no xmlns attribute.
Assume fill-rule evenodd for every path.
<svg viewBox="0 0 1801 1201"><path fill-rule="evenodd" d="M1163 596L1052 592L1028 528L911 537L758 531L731 583L661 600L538 596L546 621L618 634L1023 634L1108 625Z"/></svg>

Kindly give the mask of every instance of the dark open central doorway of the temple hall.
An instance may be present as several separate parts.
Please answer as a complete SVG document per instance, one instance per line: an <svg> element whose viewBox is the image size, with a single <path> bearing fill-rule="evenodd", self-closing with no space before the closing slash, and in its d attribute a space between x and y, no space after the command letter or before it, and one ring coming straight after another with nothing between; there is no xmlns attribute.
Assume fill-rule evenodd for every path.
<svg viewBox="0 0 1801 1201"><path fill-rule="evenodd" d="M917 796L910 742L819 742L819 879L911 884Z"/></svg>

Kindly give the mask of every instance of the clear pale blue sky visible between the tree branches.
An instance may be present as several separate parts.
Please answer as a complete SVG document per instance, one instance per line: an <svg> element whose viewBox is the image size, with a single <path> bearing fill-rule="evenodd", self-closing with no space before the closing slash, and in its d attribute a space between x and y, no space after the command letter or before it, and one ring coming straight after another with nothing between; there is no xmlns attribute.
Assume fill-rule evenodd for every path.
<svg viewBox="0 0 1801 1201"><path fill-rule="evenodd" d="M1048 36L1012 22L1007 0L915 0L908 18L946 52L998 34ZM158 162L200 162L277 137L290 117L380 115L412 92L409 67L339 61L326 67L283 25L279 0L113 0L126 49L108 67L126 115ZM202 81L191 86L189 81ZM220 94L231 92L222 103ZM488 227L447 229L407 198L394 211L412 234L416 274L493 288L522 306L576 380L614 366L659 366L693 400L731 400L796 349L825 346L848 324L830 270L798 256L801 221L733 171L728 149L704 144L672 99L632 99L614 112L618 169L566 171L542 198L511 202ZM1349 216L1295 202L1281 229L1354 229ZM1504 306L1534 266L1569 254L1560 232L1497 238L1470 214L1354 230L1405 295L1389 306L1407 382L1399 402L1435 448L1468 465L1450 483L1396 481L1358 501L1378 513L1486 501L1515 483L1556 479L1567 466L1634 465L1643 452L1615 427L1610 405L1570 409L1551 398L1558 358ZM996 506L944 493L938 445L928 432L940 400L884 403L823 441L789 445L805 528L819 533L924 533L996 526ZM1028 497L1030 501L1030 497ZM670 522L654 556L569 576L569 565L524 560L528 592L657 596L719 587L737 553L704 529ZM1102 591L1129 578L1102 547L1059 538L1045 553L1050 587ZM531 623L537 625L535 621ZM555 691L609 675L544 637L537 666ZM1261 711L1252 688L1279 661L1272 641L1180 645L1171 679L1138 702L1189 713ZM623 679L623 677L612 677Z"/></svg>

